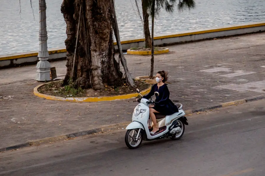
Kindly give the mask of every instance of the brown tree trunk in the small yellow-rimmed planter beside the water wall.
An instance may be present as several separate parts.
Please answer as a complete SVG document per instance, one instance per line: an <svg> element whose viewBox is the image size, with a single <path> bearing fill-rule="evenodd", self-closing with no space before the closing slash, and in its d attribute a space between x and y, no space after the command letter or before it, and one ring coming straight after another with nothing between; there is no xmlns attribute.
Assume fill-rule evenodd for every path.
<svg viewBox="0 0 265 176"><path fill-rule="evenodd" d="M143 11L143 20L144 20L144 34L145 34L145 47L151 48L152 40L149 30L149 14L147 11L147 5L144 4L145 0L142 0L142 11Z"/></svg>

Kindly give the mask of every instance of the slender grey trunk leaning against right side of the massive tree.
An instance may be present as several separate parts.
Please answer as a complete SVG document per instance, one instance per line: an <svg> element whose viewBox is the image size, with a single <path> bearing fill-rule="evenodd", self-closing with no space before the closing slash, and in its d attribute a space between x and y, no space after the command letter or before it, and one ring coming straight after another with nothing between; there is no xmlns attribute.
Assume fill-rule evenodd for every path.
<svg viewBox="0 0 265 176"><path fill-rule="evenodd" d="M128 70L128 67L127 67L127 62L126 62L126 58L122 52L122 45L120 43L120 33L119 33L119 28L118 28L118 22L117 22L117 18L116 18L116 11L115 11L115 4L114 4L114 0L112 0L112 9L113 9L113 31L114 31L114 34L115 34L115 37L116 37L116 41L117 41L117 45L118 45L118 49L119 49L119 53L120 53L120 60L121 60L121 63L122 63L122 67L124 68L124 72L125 72L125 75L126 75L126 79L129 83L130 86L132 87L135 87L135 84L134 84L134 81L132 79L132 76Z"/></svg>

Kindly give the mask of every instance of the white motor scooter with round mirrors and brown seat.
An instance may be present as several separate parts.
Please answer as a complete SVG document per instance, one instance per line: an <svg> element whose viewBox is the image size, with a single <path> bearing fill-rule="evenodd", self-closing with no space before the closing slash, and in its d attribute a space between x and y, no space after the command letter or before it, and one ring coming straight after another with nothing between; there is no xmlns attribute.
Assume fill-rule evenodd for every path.
<svg viewBox="0 0 265 176"><path fill-rule="evenodd" d="M139 89L137 89L137 92L140 94ZM154 96L159 96L159 93L155 92L152 97ZM141 95L141 97L143 96ZM156 103L152 101L152 97L150 101L144 98L139 99L140 103L135 107L132 114L132 123L126 127L125 143L130 149L138 148L143 140L152 141L163 138L180 139L184 134L185 125L188 125L182 104L175 104L178 107L178 112L168 116L155 114L159 131L151 135L150 131L152 131L153 124L149 125L151 127L149 129L149 105Z"/></svg>

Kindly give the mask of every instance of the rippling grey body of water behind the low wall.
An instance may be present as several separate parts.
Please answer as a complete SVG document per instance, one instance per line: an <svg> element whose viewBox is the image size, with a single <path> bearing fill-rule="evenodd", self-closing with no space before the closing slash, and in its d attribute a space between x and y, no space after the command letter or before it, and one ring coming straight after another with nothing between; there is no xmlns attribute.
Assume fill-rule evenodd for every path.
<svg viewBox="0 0 265 176"><path fill-rule="evenodd" d="M139 4L140 3L140 0ZM1 0L0 55L39 50L39 1ZM62 0L46 0L48 48L65 47L66 24L60 12ZM144 38L134 0L115 0L120 38ZM141 8L141 7L140 7ZM34 19L34 16L35 19ZM191 11L166 13L155 19L155 35L193 29L259 22L265 19L265 0L197 0ZM151 23L151 20L150 20Z"/></svg>

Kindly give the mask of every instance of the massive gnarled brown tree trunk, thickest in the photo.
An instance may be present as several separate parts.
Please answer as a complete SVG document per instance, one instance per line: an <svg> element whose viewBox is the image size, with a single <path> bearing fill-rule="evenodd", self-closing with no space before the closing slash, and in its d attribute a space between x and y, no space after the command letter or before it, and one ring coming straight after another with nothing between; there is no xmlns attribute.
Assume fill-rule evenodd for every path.
<svg viewBox="0 0 265 176"><path fill-rule="evenodd" d="M77 34L80 8L81 18ZM106 84L120 86L122 73L114 58L111 1L63 0L61 11L67 27L67 73L64 85L71 78L76 87L82 89L102 89ZM79 37L73 69L77 35Z"/></svg>

